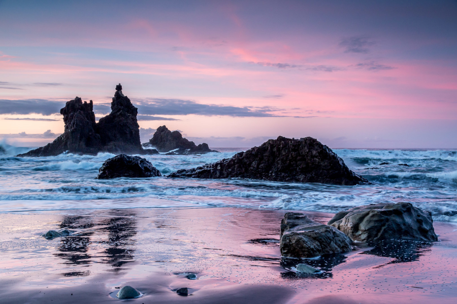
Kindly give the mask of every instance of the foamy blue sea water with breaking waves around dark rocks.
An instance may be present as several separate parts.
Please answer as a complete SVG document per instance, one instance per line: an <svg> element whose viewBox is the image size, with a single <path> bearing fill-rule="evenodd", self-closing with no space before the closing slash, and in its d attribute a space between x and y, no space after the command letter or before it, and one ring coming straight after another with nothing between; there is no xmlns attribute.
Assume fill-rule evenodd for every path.
<svg viewBox="0 0 457 304"><path fill-rule="evenodd" d="M245 148L206 155L142 156L162 175L230 158ZM339 186L248 179L95 179L115 155L0 155L0 212L113 208L250 207L338 212L380 202L410 202L434 220L457 222L457 151L333 149L372 184Z"/></svg>

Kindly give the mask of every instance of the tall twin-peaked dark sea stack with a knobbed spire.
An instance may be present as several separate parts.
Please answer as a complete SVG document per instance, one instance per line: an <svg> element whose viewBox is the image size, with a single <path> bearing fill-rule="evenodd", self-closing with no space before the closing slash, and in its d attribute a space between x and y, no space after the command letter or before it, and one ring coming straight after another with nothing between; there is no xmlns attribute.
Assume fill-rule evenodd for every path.
<svg viewBox="0 0 457 304"><path fill-rule="evenodd" d="M113 154L157 154L154 149L143 149L140 142L138 109L122 94L122 86L116 86L111 113L95 123L93 103L82 102L76 97L60 109L65 131L53 142L30 150L19 157L56 156L65 151L75 154L95 155L99 152Z"/></svg>

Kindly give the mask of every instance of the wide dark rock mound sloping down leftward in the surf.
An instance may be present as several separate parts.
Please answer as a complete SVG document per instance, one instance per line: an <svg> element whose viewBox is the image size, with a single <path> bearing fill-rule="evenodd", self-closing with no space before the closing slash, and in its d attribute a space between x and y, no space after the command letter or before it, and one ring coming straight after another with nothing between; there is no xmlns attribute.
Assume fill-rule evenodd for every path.
<svg viewBox="0 0 457 304"><path fill-rule="evenodd" d="M179 170L169 177L252 178L287 182L321 182L342 185L368 183L355 174L328 146L314 138L279 136L259 147L203 167Z"/></svg>

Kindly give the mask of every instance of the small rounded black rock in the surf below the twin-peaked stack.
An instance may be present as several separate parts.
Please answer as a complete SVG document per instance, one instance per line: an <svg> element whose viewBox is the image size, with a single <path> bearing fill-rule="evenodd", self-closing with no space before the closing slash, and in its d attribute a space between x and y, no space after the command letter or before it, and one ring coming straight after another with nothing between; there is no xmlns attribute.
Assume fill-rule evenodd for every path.
<svg viewBox="0 0 457 304"><path fill-rule="evenodd" d="M161 176L160 171L144 158L125 154L106 160L99 172L98 179Z"/></svg>

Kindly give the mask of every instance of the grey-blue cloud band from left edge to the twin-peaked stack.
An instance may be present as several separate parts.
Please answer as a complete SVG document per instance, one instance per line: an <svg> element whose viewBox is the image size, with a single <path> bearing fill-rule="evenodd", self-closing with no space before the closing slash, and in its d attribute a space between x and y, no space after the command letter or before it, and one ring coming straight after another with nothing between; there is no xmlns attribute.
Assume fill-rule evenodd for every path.
<svg viewBox="0 0 457 304"><path fill-rule="evenodd" d="M59 113L60 108L64 104L61 101L50 101L46 99L0 99L0 114L27 115L36 113L48 116Z"/></svg>

